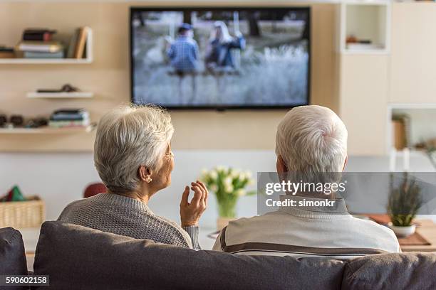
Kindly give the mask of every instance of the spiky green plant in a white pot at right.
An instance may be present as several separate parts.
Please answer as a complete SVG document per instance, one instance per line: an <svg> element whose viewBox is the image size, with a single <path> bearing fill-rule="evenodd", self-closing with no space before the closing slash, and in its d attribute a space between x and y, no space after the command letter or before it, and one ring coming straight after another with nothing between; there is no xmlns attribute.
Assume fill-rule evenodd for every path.
<svg viewBox="0 0 436 290"><path fill-rule="evenodd" d="M391 192L388 200L388 214L391 222L389 227L399 237L412 235L416 226L413 219L422 204L420 187L415 178L409 178L404 173L404 180L398 188L393 188L393 176L391 175Z"/></svg>

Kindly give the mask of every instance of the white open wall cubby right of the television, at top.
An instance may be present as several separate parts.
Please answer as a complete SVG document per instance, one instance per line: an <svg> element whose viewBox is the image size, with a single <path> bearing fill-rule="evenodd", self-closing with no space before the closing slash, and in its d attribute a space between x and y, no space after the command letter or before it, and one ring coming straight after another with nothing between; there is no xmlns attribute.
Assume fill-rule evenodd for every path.
<svg viewBox="0 0 436 290"><path fill-rule="evenodd" d="M340 6L338 48L343 54L385 54L390 50L390 2L343 1ZM370 43L347 43L348 36Z"/></svg>

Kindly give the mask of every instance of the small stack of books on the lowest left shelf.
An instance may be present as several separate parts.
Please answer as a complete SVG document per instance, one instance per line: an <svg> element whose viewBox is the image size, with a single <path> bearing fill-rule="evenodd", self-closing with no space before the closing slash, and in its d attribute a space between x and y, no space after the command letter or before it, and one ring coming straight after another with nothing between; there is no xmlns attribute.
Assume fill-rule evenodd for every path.
<svg viewBox="0 0 436 290"><path fill-rule="evenodd" d="M50 116L48 126L54 128L88 127L89 112L85 109L58 109Z"/></svg>

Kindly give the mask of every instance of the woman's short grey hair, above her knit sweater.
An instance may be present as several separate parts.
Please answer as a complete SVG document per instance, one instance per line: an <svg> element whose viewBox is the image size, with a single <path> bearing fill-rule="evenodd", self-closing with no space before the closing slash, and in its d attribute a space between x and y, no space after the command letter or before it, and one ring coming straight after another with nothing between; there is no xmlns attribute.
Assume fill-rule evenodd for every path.
<svg viewBox="0 0 436 290"><path fill-rule="evenodd" d="M159 107L123 106L105 114L95 137L94 164L108 190L136 190L140 166L159 170L173 132L170 114Z"/></svg>

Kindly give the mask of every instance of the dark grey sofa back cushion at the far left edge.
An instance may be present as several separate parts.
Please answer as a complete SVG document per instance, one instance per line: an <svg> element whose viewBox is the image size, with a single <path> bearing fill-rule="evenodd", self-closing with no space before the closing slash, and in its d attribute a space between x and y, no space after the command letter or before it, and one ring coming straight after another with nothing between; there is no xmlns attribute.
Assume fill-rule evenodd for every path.
<svg viewBox="0 0 436 290"><path fill-rule="evenodd" d="M23 237L12 227L0 229L0 274L27 274Z"/></svg>

